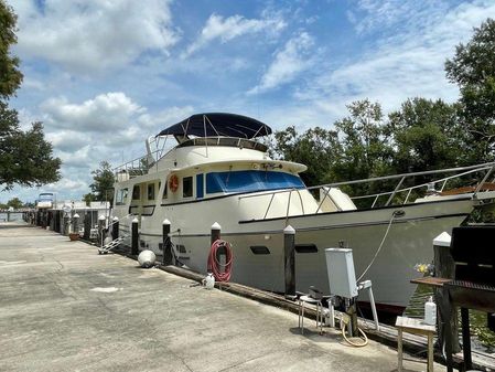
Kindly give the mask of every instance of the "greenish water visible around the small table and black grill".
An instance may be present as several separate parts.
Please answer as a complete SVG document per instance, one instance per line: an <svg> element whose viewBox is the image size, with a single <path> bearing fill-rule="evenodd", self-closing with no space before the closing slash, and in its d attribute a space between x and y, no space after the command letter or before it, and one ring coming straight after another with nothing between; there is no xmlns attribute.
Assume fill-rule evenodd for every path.
<svg viewBox="0 0 495 372"><path fill-rule="evenodd" d="M430 296L433 296L432 288L418 285L403 315L411 318L423 318L424 302ZM461 312L458 313L458 319L461 319ZM472 347L475 350L491 353L495 352L495 332L487 328L486 321L486 312L470 310L471 336L475 336ZM459 330L461 331L461 327L459 327Z"/></svg>

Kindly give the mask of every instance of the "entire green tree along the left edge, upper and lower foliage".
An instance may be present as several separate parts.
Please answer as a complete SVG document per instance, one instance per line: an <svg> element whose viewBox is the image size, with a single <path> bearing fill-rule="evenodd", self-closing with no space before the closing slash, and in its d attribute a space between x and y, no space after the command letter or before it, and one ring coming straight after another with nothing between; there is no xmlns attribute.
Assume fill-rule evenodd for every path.
<svg viewBox="0 0 495 372"><path fill-rule="evenodd" d="M43 126L34 123L28 131L19 125L18 111L6 100L14 95L22 82L19 59L10 55L15 44L17 17L12 8L0 0L0 185L33 187L60 179L61 160L52 157L52 145L44 139ZM1 189L0 189L1 190Z"/></svg>

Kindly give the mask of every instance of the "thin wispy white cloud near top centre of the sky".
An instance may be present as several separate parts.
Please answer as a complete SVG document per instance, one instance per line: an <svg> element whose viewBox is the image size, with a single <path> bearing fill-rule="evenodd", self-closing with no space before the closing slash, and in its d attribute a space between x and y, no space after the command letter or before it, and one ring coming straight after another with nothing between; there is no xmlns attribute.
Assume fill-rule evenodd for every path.
<svg viewBox="0 0 495 372"><path fill-rule="evenodd" d="M209 15L205 26L200 33L200 36L194 41L182 55L186 57L197 50L205 47L214 40L219 40L222 43L226 43L233 39L249 34L249 33L277 33L286 28L286 22L276 18L263 19L245 19L241 15L232 15L223 18L218 14Z"/></svg>

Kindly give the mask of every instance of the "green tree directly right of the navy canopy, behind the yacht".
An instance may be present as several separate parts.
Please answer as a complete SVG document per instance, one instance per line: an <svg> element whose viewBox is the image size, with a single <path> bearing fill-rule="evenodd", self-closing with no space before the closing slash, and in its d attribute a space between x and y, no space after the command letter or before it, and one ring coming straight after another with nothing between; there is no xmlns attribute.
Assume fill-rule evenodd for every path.
<svg viewBox="0 0 495 372"><path fill-rule="evenodd" d="M271 152L288 161L308 166L301 178L309 187L327 183L327 171L340 153L337 136L334 130L319 127L299 135L294 126L275 134L276 144Z"/></svg>

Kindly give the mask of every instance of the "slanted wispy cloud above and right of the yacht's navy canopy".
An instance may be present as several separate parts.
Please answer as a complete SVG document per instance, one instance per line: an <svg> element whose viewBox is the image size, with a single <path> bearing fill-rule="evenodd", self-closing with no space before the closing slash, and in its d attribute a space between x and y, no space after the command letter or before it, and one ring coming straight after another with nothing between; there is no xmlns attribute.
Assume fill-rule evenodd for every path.
<svg viewBox="0 0 495 372"><path fill-rule="evenodd" d="M260 84L248 93L256 94L292 82L312 65L311 51L313 46L314 40L306 32L301 32L290 39L283 49L276 53L275 60L261 77Z"/></svg>

